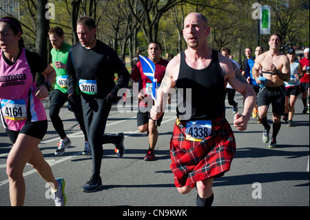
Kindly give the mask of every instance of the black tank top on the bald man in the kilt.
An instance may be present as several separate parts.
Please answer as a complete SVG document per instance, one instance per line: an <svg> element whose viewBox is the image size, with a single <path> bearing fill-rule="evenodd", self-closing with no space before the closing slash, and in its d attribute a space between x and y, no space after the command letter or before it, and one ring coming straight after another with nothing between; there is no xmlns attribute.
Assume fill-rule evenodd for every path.
<svg viewBox="0 0 310 220"><path fill-rule="evenodd" d="M185 52L181 52L176 87L178 90L176 113L180 120L211 120L224 116L225 81L220 71L216 50L212 50L211 62L203 70L189 67L185 61ZM191 106L186 108L186 101L191 101Z"/></svg>

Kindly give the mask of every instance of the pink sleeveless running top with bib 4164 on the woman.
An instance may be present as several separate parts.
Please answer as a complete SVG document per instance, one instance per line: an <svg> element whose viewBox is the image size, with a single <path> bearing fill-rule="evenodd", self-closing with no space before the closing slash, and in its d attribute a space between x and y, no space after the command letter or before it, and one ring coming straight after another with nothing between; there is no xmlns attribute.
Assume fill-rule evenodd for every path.
<svg viewBox="0 0 310 220"><path fill-rule="evenodd" d="M46 120L44 106L34 94L37 80L30 70L25 49L12 66L6 63L2 53L0 50L0 113L4 128L19 131L27 121Z"/></svg>

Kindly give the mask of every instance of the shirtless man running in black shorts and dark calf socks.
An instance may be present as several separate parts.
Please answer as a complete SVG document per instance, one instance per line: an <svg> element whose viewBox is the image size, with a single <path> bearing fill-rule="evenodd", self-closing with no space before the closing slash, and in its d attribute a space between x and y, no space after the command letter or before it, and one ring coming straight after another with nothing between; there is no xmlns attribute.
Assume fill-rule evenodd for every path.
<svg viewBox="0 0 310 220"><path fill-rule="evenodd" d="M269 39L269 50L257 57L252 73L258 85L266 83L257 95L258 117L264 130L262 142L269 141L271 126L267 122L269 105L272 105L273 134L270 139L269 148L276 147L276 137L281 127L281 115L285 112L285 86L284 81L289 81L291 70L289 59L286 54L280 52L280 34L271 34ZM261 71L260 71L261 70ZM260 73L261 72L261 73ZM262 81L261 77L265 77ZM267 81L265 81L267 79Z"/></svg>

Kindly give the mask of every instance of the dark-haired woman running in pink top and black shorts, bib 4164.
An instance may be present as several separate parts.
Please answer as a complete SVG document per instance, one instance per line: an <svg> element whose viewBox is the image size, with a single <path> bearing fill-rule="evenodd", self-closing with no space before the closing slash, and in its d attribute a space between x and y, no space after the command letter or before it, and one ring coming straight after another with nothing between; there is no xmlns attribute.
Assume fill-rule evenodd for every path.
<svg viewBox="0 0 310 220"><path fill-rule="evenodd" d="M40 99L48 97L50 83L56 78L54 69L39 54L23 48L23 31L17 19L0 20L0 102L1 121L13 143L8 154L6 172L10 181L12 206L23 206L26 163L50 185L56 206L65 205L63 179L55 179L38 146L48 129L44 106ZM36 86L36 72L45 82Z"/></svg>

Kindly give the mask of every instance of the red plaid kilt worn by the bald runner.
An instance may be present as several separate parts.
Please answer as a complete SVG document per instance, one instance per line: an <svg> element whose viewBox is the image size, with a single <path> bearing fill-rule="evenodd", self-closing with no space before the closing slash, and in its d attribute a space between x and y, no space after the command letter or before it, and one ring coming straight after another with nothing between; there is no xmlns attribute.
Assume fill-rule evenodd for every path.
<svg viewBox="0 0 310 220"><path fill-rule="evenodd" d="M211 134L200 142L185 140L186 123L176 121L170 141L170 168L178 188L194 188L197 181L222 177L230 169L236 152L234 133L225 118L212 120Z"/></svg>

